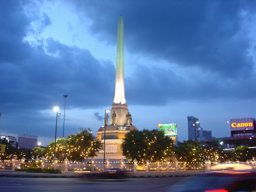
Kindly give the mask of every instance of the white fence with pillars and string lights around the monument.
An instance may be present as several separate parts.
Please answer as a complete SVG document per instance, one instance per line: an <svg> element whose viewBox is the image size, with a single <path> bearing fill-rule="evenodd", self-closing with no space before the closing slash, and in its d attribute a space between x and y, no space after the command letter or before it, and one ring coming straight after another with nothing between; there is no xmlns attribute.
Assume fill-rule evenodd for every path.
<svg viewBox="0 0 256 192"><path fill-rule="evenodd" d="M0 160L0 171L9 170L14 171L15 168L20 168L20 165L24 164L25 158L22 160ZM120 161L111 162L109 159L103 162L95 162L94 159L91 159L90 162L72 162L67 158L64 162L58 162L57 159L53 161L47 161L44 157L36 159L36 162L41 162L41 169L60 169L62 172L101 172L109 168L120 169L126 172L179 172L179 171L207 171L214 164L211 164L210 161L205 161L204 163L184 163L184 162L156 162L150 163L146 161L145 164L137 164L136 159L130 163L121 159ZM229 162L230 163L230 162ZM256 169L256 161L247 161L245 162L251 165Z"/></svg>

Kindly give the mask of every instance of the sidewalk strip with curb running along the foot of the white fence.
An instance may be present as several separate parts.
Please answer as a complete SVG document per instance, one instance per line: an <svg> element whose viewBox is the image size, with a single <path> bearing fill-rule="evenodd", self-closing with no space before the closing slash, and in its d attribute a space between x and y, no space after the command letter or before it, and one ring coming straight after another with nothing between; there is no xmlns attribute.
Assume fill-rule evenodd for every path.
<svg viewBox="0 0 256 192"><path fill-rule="evenodd" d="M25 171L0 171L0 177L28 177L28 178L84 178L89 172L68 172L68 173L27 173ZM142 177L189 177L205 173L204 171L188 172L138 172L127 173L128 178Z"/></svg>

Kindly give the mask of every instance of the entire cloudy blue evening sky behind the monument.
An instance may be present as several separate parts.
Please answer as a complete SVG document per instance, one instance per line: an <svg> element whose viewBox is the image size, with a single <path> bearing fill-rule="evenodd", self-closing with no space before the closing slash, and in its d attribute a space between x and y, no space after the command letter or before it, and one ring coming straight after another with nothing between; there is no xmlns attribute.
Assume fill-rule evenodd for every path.
<svg viewBox="0 0 256 192"><path fill-rule="evenodd" d="M0 135L96 136L115 89L124 20L125 98L138 130L187 116L214 137L256 117L255 0L0 1ZM63 95L68 95L65 98Z"/></svg>

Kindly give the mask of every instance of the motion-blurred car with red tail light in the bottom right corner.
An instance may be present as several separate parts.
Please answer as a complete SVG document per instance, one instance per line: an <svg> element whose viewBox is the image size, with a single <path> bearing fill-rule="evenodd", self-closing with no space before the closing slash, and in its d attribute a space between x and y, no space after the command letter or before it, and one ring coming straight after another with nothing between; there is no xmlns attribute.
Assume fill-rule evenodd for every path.
<svg viewBox="0 0 256 192"><path fill-rule="evenodd" d="M217 171L188 177L168 192L252 192L256 191L256 172Z"/></svg>

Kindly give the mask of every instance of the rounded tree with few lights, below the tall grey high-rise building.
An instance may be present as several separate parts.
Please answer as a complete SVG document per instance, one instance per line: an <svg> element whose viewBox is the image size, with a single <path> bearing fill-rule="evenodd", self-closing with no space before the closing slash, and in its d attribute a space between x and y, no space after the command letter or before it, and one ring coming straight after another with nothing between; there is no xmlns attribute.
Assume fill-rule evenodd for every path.
<svg viewBox="0 0 256 192"><path fill-rule="evenodd" d="M195 163L201 161L202 154L203 150L200 143L195 143L192 140L183 141L174 149L174 156L181 162Z"/></svg>

